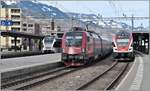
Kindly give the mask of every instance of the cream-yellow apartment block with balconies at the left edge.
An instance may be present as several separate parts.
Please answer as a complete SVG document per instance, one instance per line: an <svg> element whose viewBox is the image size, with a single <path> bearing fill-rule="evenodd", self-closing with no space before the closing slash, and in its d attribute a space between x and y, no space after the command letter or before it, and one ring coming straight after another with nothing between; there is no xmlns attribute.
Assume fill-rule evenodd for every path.
<svg viewBox="0 0 150 91"><path fill-rule="evenodd" d="M21 9L20 8L0 8L0 20L11 20L11 26L0 25L0 31L21 32ZM1 36L0 38L2 49L9 49L14 46L13 37ZM21 45L21 38L17 39L17 46Z"/></svg>

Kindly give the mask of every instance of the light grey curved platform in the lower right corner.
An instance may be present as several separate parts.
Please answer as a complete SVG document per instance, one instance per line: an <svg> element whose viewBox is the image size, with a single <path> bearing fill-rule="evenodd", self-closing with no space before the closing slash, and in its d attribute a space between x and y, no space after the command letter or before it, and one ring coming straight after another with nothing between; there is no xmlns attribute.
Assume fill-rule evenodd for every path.
<svg viewBox="0 0 150 91"><path fill-rule="evenodd" d="M140 52L138 54L131 69L115 89L116 91L149 91L150 55Z"/></svg>

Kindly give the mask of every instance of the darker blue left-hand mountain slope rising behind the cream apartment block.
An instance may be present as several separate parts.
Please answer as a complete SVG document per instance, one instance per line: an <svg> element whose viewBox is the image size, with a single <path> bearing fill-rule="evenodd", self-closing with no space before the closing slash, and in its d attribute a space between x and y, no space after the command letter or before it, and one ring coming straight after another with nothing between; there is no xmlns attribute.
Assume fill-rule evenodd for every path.
<svg viewBox="0 0 150 91"><path fill-rule="evenodd" d="M7 5L7 6L6 6ZM68 18L68 15L56 7L39 3L37 1L21 0L18 2L3 2L2 7L18 7L24 12L24 16L35 16L45 18Z"/></svg>

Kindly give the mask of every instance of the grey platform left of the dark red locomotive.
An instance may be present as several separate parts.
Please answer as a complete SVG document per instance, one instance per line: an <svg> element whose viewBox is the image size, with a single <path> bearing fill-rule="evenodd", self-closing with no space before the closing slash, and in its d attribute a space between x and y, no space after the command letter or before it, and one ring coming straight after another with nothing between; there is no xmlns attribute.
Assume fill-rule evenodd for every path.
<svg viewBox="0 0 150 91"><path fill-rule="evenodd" d="M19 58L0 59L0 72L60 62L61 54L46 54Z"/></svg>

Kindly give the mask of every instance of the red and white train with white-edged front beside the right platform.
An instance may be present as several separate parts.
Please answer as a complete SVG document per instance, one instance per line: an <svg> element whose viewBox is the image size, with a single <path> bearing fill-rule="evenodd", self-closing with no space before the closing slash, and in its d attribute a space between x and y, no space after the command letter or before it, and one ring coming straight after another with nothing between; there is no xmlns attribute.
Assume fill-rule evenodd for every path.
<svg viewBox="0 0 150 91"><path fill-rule="evenodd" d="M115 60L134 59L132 33L122 30L113 36L113 57Z"/></svg>

